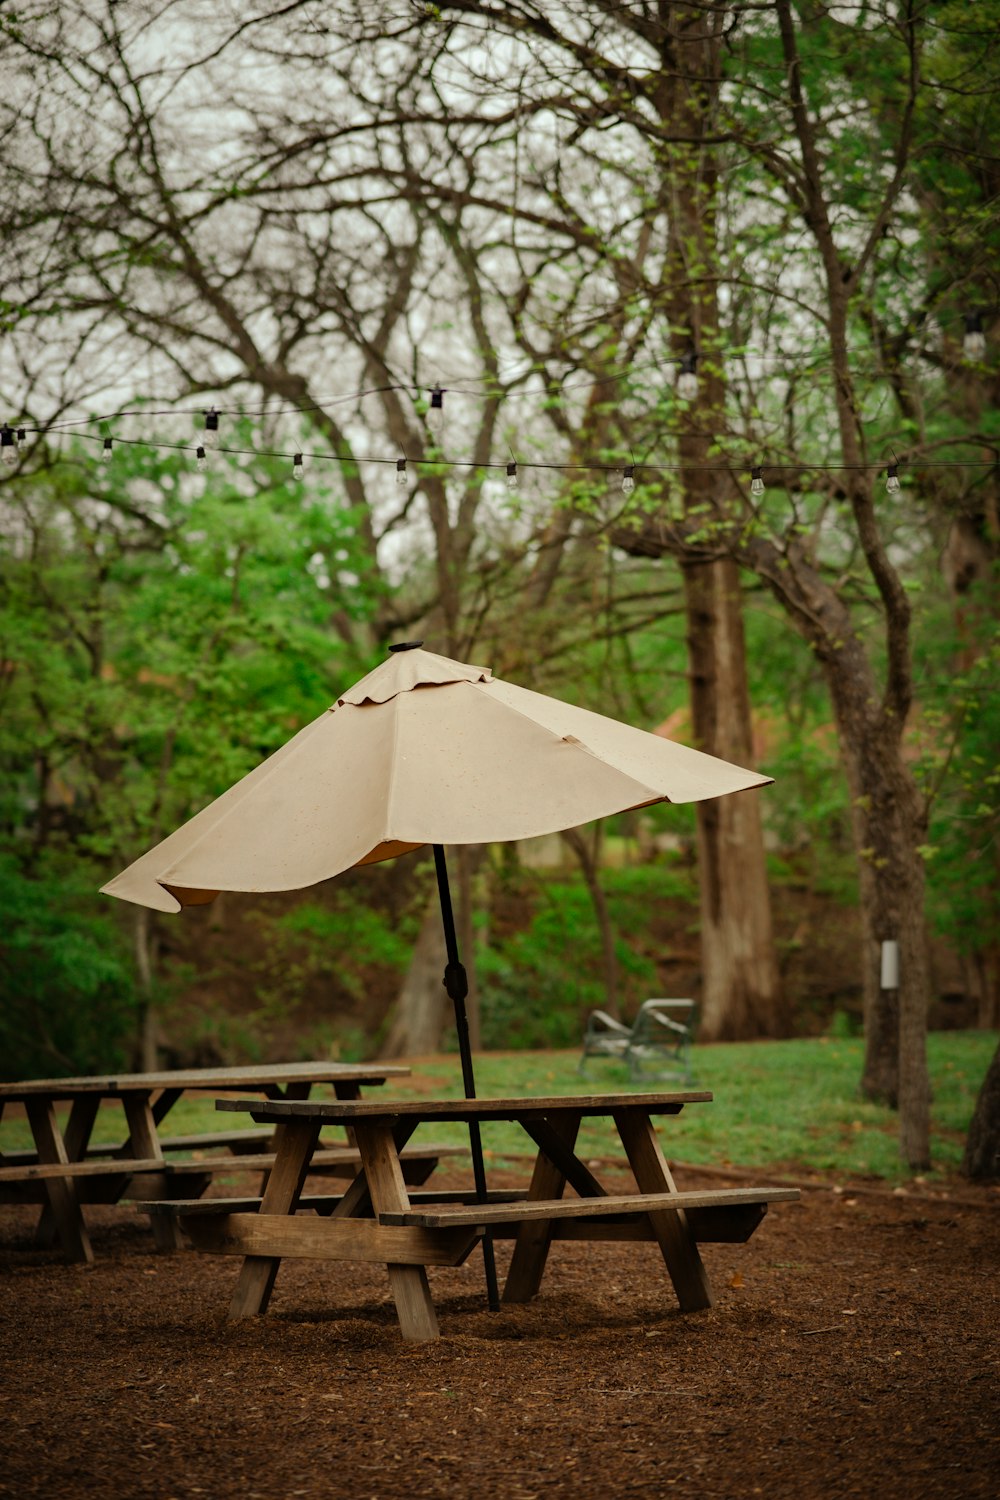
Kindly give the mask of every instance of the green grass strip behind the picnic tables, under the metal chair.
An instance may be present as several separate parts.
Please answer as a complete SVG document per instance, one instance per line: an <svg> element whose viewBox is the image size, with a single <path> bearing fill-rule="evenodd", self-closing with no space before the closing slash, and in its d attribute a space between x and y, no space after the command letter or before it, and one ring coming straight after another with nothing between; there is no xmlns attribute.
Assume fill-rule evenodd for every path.
<svg viewBox="0 0 1000 1500"><path fill-rule="evenodd" d="M931 1178L955 1172L961 1161L976 1095L996 1046L997 1036L991 1032L934 1032L928 1038L934 1095ZM696 1046L693 1086L709 1089L715 1098L661 1120L664 1150L670 1160L711 1166L775 1166L801 1173L903 1180L909 1173L898 1156L895 1114L858 1096L862 1056L861 1038ZM579 1050L481 1053L475 1059L477 1092L481 1096L634 1092L624 1065L589 1059L582 1076L579 1059ZM660 1084L643 1088L655 1090ZM387 1084L385 1094L390 1092L406 1098L460 1096L457 1056L421 1062L411 1078ZM220 1130L237 1120L234 1114L220 1118L210 1098L190 1096L175 1106L166 1126L187 1134ZM456 1144L468 1140L457 1125L421 1130L435 1140ZM121 1134L120 1110L114 1106L102 1110L94 1138L120 1140ZM0 1149L30 1143L24 1120L0 1122ZM529 1150L519 1126L507 1124L486 1124L483 1144L495 1160ZM580 1146L585 1158L621 1155L615 1130L606 1119L585 1120Z"/></svg>

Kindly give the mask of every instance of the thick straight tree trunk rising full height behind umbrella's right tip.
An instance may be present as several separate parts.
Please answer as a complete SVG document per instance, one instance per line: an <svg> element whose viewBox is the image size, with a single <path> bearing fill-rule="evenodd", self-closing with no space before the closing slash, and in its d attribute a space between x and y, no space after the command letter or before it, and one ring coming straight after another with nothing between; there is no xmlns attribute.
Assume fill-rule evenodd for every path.
<svg viewBox="0 0 1000 1500"><path fill-rule="evenodd" d="M655 105L673 144L661 158L667 207L663 302L679 357L696 356L699 394L678 417L679 482L687 516L720 516L711 472L727 428L720 312L715 114L721 84L721 16L675 6L663 30ZM679 141L688 144L679 146ZM724 504L723 504L724 508ZM684 564L688 672L696 742L747 765L753 756L739 572L729 558ZM781 1035L781 998L771 924L760 804L742 794L697 804L702 903L702 1023L712 1038Z"/></svg>

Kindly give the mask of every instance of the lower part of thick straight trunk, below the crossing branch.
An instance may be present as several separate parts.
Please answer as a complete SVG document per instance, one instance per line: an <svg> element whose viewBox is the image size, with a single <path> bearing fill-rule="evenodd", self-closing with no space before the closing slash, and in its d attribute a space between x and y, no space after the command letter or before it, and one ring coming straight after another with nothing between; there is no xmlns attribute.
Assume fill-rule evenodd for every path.
<svg viewBox="0 0 1000 1500"><path fill-rule="evenodd" d="M753 762L739 573L729 561L685 564L694 742ZM705 1041L787 1035L771 926L757 794L697 804Z"/></svg>

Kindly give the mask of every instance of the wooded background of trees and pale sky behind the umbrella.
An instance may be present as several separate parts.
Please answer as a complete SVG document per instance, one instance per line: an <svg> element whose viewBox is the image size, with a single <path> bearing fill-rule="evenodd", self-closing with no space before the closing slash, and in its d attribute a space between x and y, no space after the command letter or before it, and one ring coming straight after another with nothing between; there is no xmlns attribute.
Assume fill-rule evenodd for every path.
<svg viewBox="0 0 1000 1500"><path fill-rule="evenodd" d="M124 930L85 894L418 634L777 777L696 822L580 831L576 876L471 854L483 1044L573 1044L591 1004L682 980L706 1038L858 1011L862 1088L928 1160L928 1014L946 992L1000 1022L999 21L0 16L0 390L25 432L0 489L0 964L22 1071L96 1065L136 1006L168 1041L205 1000L219 1047L265 1046L297 999L309 1046L441 1036L420 860L273 904L268 944L228 956L232 904ZM841 918L817 902L858 920L835 994ZM567 934L598 978L559 964Z"/></svg>

